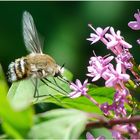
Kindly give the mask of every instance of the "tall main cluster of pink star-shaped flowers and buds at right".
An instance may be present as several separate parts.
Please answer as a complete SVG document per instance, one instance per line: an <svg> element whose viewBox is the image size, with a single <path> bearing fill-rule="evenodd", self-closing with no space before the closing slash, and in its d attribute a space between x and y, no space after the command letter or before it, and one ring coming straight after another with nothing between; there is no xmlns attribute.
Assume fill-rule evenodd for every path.
<svg viewBox="0 0 140 140"><path fill-rule="evenodd" d="M102 78L105 80L106 87L113 87L116 90L111 105L108 103L100 105L104 114L110 115L110 111L113 111L116 118L124 117L127 115L124 104L128 103L127 97L129 95L125 83L130 79L126 70L131 70L133 67L131 63L132 55L129 52L132 45L124 40L119 30L115 33L113 27L106 27L105 29L94 29L92 25L89 25L89 27L95 33L91 33L87 40L91 41L91 44L102 41L115 56L91 57L87 67L89 72L87 76L91 77L93 82ZM116 68L111 63L113 59L116 61Z"/></svg>

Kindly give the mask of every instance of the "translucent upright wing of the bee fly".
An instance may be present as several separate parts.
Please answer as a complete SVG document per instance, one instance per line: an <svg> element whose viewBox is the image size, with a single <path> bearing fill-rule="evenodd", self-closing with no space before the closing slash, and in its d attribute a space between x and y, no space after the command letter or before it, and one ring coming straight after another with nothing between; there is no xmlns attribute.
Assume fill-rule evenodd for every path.
<svg viewBox="0 0 140 140"><path fill-rule="evenodd" d="M37 29L31 14L23 13L23 38L27 50L30 53L42 53L42 46L38 37Z"/></svg>

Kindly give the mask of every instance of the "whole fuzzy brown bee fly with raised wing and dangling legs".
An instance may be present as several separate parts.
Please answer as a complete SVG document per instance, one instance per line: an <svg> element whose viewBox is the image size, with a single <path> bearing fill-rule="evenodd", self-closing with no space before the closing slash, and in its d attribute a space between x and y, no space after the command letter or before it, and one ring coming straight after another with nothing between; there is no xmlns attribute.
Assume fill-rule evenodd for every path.
<svg viewBox="0 0 140 140"><path fill-rule="evenodd" d="M40 43L33 18L29 12L25 11L23 13L22 22L23 22L23 39L26 49L29 51L30 54L25 57L16 59L15 62L11 62L11 64L8 67L8 80L10 82L14 82L29 77L34 78L35 79L34 97L40 97L39 95L37 95L38 79L40 79L43 83L45 83L47 86L53 89L55 88L53 86L50 86L50 84L48 84L47 82L56 85L61 90L63 90L63 92L66 92L63 88L61 88L57 84L54 78L57 77L59 80L68 83L68 81L64 79L61 75L61 68L63 66L60 67L59 65L56 64L55 60L51 56L43 54L42 45ZM47 79L48 76L52 76L55 83L48 80Z"/></svg>

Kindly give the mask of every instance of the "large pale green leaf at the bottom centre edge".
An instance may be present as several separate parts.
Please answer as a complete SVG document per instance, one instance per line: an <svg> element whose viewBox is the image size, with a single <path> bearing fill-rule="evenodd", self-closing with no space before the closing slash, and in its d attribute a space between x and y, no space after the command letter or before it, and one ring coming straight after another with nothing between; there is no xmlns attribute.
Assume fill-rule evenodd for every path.
<svg viewBox="0 0 140 140"><path fill-rule="evenodd" d="M84 131L87 116L73 109L57 109L36 116L29 132L31 139L77 139Z"/></svg>

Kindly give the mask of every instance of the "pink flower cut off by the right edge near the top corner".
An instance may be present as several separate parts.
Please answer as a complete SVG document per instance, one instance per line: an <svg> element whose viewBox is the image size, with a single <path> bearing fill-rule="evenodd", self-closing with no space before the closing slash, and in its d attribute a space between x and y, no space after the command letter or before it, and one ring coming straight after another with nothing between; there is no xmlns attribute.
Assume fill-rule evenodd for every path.
<svg viewBox="0 0 140 140"><path fill-rule="evenodd" d="M136 21L130 21L128 26L133 30L140 30L140 11L134 14Z"/></svg>

